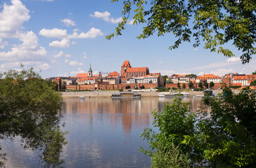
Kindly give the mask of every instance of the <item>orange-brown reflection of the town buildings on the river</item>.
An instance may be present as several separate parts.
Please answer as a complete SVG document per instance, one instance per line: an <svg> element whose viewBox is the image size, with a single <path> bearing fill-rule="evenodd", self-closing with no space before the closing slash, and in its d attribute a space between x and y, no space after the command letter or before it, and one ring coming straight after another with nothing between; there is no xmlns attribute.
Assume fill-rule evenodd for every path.
<svg viewBox="0 0 256 168"><path fill-rule="evenodd" d="M122 125L124 134L130 134L132 129L143 129L151 124L151 113L154 109L161 112L165 104L172 103L173 99L141 98L141 99L110 99L110 98L68 98L63 100L61 113L83 114L88 116L90 125L95 120L106 120L107 117L113 127ZM197 111L198 106L209 108L200 98L184 98L183 102L191 104L191 111ZM103 114L103 115L100 115ZM104 117L104 119L103 119ZM83 120L83 118L79 119Z"/></svg>

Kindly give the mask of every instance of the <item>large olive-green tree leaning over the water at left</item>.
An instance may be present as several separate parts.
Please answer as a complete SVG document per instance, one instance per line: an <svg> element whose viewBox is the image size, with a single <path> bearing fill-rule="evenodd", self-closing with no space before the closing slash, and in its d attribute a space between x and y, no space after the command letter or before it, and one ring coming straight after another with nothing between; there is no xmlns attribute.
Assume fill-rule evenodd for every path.
<svg viewBox="0 0 256 168"><path fill-rule="evenodd" d="M61 97L55 88L32 69L11 70L1 75L0 95L0 139L20 137L24 148L42 151L45 166L60 166L66 141L58 113ZM4 165L3 160L0 165Z"/></svg>

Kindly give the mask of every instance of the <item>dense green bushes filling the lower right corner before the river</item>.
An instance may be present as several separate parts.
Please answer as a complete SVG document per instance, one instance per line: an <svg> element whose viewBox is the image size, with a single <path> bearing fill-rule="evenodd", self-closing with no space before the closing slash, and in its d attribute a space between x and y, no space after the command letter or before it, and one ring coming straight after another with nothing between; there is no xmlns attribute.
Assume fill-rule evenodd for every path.
<svg viewBox="0 0 256 168"><path fill-rule="evenodd" d="M178 99L162 113L153 111L159 132L144 130L141 136L150 148L142 152L155 160L162 143L168 150L179 146L179 155L188 155L190 167L256 167L256 90L233 94L225 87L219 97L206 97L206 102L210 112L191 113Z"/></svg>

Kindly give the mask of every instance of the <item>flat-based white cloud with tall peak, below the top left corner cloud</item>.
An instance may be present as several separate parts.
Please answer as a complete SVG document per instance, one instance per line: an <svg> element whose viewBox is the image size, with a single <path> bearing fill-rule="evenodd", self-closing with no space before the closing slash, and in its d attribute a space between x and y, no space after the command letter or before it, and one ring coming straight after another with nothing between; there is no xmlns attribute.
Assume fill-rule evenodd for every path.
<svg viewBox="0 0 256 168"><path fill-rule="evenodd" d="M28 31L25 34L20 34L20 45L15 45L11 51L0 52L1 61L35 61L45 60L47 52L45 48L40 47L38 44L37 35L33 31Z"/></svg>

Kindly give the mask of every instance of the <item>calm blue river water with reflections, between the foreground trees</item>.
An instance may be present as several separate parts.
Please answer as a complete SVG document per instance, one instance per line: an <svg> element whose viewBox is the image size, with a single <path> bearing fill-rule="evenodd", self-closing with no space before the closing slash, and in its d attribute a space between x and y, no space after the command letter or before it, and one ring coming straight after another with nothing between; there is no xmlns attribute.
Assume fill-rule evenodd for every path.
<svg viewBox="0 0 256 168"><path fill-rule="evenodd" d="M184 98L191 111L203 106L200 98ZM149 167L150 158L139 153L148 147L140 138L151 127L151 112L162 111L172 99L64 99L63 130L68 131L64 147L65 167ZM23 149L18 141L1 141L7 153L6 167L38 167L39 152Z"/></svg>

